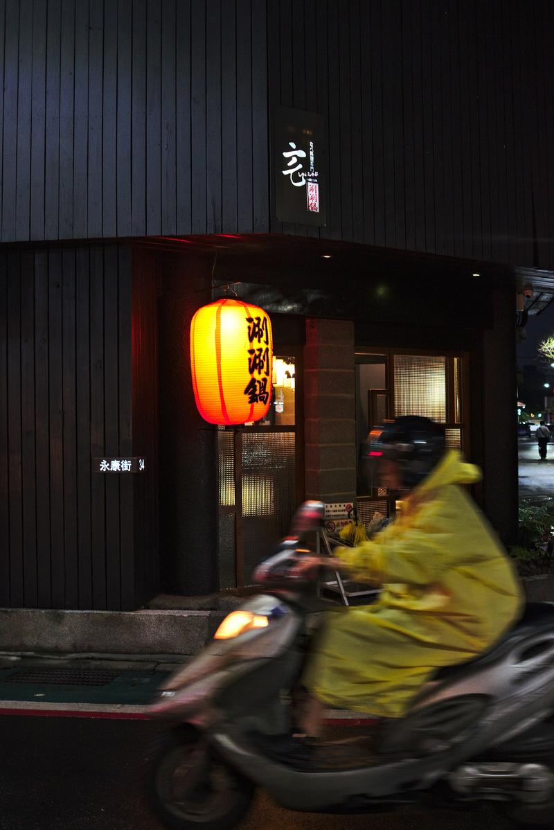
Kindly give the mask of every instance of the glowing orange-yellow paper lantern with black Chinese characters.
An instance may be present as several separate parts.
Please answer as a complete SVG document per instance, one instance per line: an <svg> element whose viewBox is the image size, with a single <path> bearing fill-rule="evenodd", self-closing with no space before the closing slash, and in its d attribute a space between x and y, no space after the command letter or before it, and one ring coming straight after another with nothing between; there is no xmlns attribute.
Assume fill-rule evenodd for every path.
<svg viewBox="0 0 554 830"><path fill-rule="evenodd" d="M192 387L209 423L259 421L270 408L273 339L269 315L225 298L191 322Z"/></svg>

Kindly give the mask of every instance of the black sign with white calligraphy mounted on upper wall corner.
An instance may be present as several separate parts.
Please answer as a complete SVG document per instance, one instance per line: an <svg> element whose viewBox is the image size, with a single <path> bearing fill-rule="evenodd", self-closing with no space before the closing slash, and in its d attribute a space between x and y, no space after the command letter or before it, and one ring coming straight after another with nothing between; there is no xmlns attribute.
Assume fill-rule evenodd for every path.
<svg viewBox="0 0 554 830"><path fill-rule="evenodd" d="M327 224L323 118L313 112L275 107L273 180L279 222Z"/></svg>

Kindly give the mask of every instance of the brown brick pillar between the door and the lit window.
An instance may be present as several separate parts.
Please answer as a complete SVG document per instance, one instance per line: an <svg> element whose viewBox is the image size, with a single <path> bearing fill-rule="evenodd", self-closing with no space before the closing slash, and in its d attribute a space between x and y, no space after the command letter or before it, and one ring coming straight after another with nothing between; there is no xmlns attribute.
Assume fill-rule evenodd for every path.
<svg viewBox="0 0 554 830"><path fill-rule="evenodd" d="M356 495L354 324L306 320L304 435L306 498Z"/></svg>

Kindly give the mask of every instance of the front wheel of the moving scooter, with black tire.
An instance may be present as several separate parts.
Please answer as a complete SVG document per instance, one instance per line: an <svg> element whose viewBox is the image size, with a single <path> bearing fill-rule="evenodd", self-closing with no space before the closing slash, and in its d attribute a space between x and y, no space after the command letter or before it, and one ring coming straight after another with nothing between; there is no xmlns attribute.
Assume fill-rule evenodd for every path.
<svg viewBox="0 0 554 830"><path fill-rule="evenodd" d="M154 812L171 830L231 830L250 807L253 791L192 726L163 738L150 794Z"/></svg>

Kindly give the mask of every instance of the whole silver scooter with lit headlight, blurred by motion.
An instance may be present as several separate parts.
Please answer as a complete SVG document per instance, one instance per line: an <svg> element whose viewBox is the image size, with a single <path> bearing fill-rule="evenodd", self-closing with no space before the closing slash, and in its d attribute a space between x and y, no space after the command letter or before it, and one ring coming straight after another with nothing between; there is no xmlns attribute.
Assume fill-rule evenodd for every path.
<svg viewBox="0 0 554 830"><path fill-rule="evenodd" d="M373 738L321 742L305 757L291 749L309 620L328 607L299 577L309 553L300 540L323 515L319 502L302 505L292 535L255 572L264 593L229 614L153 701L153 716L181 724L153 764L159 818L173 830L234 828L263 787L296 811L492 802L515 825L554 826L552 603L527 605L491 651L437 671Z"/></svg>

